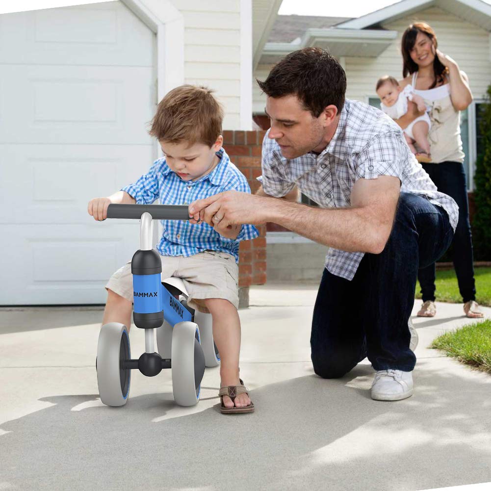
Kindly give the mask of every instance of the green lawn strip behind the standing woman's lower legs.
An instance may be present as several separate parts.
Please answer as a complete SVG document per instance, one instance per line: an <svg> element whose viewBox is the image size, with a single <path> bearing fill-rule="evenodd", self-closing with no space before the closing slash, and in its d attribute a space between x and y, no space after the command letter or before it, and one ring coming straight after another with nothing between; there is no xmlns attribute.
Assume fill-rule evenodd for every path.
<svg viewBox="0 0 491 491"><path fill-rule="evenodd" d="M475 268L476 301L491 307L491 268ZM416 283L416 298L420 299L419 281ZM436 270L436 300L440 302L462 303L457 285L457 276L452 270Z"/></svg>

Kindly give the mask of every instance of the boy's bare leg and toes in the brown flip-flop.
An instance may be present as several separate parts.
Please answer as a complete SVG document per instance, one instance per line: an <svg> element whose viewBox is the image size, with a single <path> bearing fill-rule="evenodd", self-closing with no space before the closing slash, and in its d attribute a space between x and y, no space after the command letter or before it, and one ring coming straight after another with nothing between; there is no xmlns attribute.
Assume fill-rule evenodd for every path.
<svg viewBox="0 0 491 491"><path fill-rule="evenodd" d="M206 308L213 318L213 339L220 353L221 386L239 385L239 354L241 350L241 323L239 313L232 303L225 299L206 299ZM223 404L233 408L234 403L228 396L223 396ZM235 398L238 408L248 406L247 394Z"/></svg>

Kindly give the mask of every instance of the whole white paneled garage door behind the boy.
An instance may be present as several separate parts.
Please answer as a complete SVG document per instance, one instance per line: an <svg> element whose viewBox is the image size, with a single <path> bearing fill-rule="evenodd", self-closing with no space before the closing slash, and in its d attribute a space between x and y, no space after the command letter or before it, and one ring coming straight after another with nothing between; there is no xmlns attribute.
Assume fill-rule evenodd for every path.
<svg viewBox="0 0 491 491"><path fill-rule="evenodd" d="M0 16L2 305L104 303L138 224L87 202L155 158L155 36L119 1Z"/></svg>

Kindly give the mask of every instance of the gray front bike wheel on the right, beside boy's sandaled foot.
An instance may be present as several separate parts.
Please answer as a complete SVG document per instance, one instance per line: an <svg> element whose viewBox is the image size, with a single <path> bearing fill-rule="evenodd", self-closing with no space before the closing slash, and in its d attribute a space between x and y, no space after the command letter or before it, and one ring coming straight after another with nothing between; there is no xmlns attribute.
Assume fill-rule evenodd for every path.
<svg viewBox="0 0 491 491"><path fill-rule="evenodd" d="M179 406L194 406L199 401L205 356L199 329L194 322L179 322L172 330L172 392Z"/></svg>

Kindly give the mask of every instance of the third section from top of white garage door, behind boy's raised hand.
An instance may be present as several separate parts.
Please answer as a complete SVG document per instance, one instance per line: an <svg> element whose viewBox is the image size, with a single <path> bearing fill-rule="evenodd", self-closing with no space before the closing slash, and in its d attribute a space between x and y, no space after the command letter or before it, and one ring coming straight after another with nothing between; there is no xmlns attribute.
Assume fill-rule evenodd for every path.
<svg viewBox="0 0 491 491"><path fill-rule="evenodd" d="M0 154L0 192L11 204L0 222L90 224L88 201L147 172L154 146L0 145Z"/></svg>

